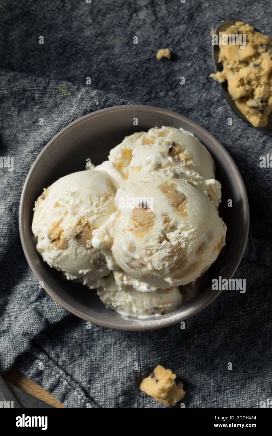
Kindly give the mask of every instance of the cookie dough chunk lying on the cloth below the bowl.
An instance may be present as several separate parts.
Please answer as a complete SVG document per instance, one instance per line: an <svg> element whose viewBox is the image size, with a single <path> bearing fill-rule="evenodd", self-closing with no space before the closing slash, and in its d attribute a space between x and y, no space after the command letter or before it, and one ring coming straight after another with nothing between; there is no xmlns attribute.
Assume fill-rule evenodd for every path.
<svg viewBox="0 0 272 436"><path fill-rule="evenodd" d="M158 365L149 377L143 379L140 390L166 407L174 406L185 395L182 383L176 385L175 378L171 369Z"/></svg>

